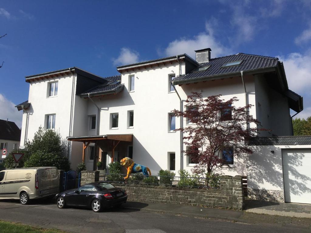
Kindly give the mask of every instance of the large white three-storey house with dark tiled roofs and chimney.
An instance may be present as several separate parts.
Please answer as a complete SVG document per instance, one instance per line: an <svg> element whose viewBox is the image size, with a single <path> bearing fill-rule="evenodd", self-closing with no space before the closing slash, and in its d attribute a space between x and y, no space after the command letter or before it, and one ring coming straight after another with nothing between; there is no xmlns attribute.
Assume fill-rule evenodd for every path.
<svg viewBox="0 0 311 233"><path fill-rule="evenodd" d="M236 96L237 107L252 104L250 114L262 122L260 127L271 129L258 136L292 135L290 109L301 112L303 99L288 88L278 58L244 53L211 58L209 48L195 52L196 60L181 54L118 66L120 75L108 78L77 67L26 76L29 100L16 106L24 109L21 141L32 139L41 125L68 139L72 169L83 161L93 170L98 160L104 169L110 162L131 157L148 166L152 174L160 169L176 174L180 169L190 171L195 164L184 156L183 135L174 129L192 123L175 119L171 111L185 109L191 92L200 92L203 97L222 94L225 100ZM269 199L272 193L281 200L279 186L273 181L270 185L268 178L252 183L258 172L252 173L250 167L257 165L250 158L262 149L254 152L229 158L233 164L224 172L248 176L249 187L258 198ZM282 153L275 156L277 162L282 161ZM266 157L270 154L257 161L258 167L268 161ZM272 169L267 176L275 177L275 172L280 173Z"/></svg>

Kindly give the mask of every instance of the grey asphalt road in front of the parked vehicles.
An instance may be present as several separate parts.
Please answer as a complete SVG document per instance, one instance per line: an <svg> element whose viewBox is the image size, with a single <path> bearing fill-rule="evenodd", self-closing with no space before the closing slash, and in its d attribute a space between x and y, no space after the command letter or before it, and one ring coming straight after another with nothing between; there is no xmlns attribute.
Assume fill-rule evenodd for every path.
<svg viewBox="0 0 311 233"><path fill-rule="evenodd" d="M259 221L261 217L272 219L267 215L243 213L241 222L230 222L122 207L100 213L82 208L59 209L54 202L47 200L35 200L30 205L21 205L18 200L0 201L2 220L72 232L311 232L309 219L278 217L275 221Z"/></svg>

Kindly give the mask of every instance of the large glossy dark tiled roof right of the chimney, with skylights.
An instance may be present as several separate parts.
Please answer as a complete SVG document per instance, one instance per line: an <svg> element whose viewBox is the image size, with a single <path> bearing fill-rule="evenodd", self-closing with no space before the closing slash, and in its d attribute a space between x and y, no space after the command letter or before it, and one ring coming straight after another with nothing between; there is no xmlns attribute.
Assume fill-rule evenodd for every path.
<svg viewBox="0 0 311 233"><path fill-rule="evenodd" d="M243 60L243 62L238 66L230 66L226 68L221 67L227 62L234 62L240 60ZM202 63L199 66L199 67L210 66L206 71L192 72L192 73L190 72L185 75L179 75L174 79L174 81L195 79L205 76L221 75L239 71L253 70L263 67L276 66L277 62L278 62L277 57L265 57L246 53L238 53L235 55L225 57L212 58L209 62Z"/></svg>

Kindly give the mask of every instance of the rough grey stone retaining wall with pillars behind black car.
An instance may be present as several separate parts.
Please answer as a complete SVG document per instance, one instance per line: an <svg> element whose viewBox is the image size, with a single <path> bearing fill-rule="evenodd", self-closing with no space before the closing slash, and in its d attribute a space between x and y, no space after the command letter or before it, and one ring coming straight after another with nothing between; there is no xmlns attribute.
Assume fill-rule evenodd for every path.
<svg viewBox="0 0 311 233"><path fill-rule="evenodd" d="M98 181L97 171L82 171L81 185ZM192 189L169 186L141 184L113 185L123 188L128 193L128 201L171 203L192 206L207 206L242 210L242 176L221 176L220 189Z"/></svg>

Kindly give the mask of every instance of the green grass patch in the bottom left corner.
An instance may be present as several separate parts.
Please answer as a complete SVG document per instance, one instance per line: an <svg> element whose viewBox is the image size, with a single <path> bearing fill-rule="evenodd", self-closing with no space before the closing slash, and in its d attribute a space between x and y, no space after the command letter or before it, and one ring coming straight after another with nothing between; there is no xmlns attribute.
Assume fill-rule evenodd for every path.
<svg viewBox="0 0 311 233"><path fill-rule="evenodd" d="M56 229L28 226L21 223L5 222L0 220L1 233L64 233Z"/></svg>

